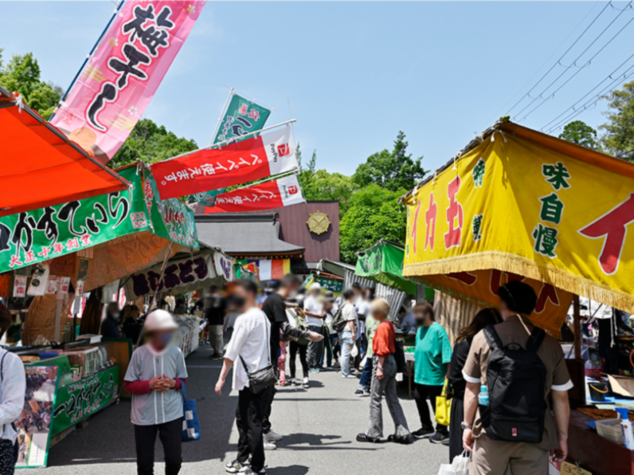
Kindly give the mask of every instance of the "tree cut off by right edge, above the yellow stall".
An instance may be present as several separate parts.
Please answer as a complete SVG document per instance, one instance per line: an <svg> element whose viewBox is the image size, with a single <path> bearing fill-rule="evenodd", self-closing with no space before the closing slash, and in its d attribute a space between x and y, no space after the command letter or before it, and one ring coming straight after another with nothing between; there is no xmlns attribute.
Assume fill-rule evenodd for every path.
<svg viewBox="0 0 634 475"><path fill-rule="evenodd" d="M601 143L605 150L625 160L634 160L634 81L623 84L604 99L609 100L604 112L607 122L599 127L605 131Z"/></svg>

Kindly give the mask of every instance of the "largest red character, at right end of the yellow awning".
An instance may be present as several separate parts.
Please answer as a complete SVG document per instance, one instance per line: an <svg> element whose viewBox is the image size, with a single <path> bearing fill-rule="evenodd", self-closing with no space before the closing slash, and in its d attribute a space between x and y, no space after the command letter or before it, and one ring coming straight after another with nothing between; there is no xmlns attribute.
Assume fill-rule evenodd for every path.
<svg viewBox="0 0 634 475"><path fill-rule="evenodd" d="M634 221L634 193L630 193L630 197L624 202L579 230L580 234L592 239L605 236L598 263L607 275L614 274L619 267L627 234L626 226L632 221Z"/></svg>

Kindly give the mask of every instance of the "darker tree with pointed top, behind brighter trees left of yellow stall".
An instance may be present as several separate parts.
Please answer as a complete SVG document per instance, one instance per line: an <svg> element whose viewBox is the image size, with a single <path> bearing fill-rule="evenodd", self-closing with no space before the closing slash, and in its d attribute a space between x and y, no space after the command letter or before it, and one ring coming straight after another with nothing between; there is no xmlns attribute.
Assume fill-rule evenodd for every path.
<svg viewBox="0 0 634 475"><path fill-rule="evenodd" d="M427 171L421 164L423 157L413 159L411 153L407 153L407 146L405 134L401 131L396 136L391 152L385 149L374 153L357 167L353 175L354 184L363 188L375 183L392 191L413 188Z"/></svg>

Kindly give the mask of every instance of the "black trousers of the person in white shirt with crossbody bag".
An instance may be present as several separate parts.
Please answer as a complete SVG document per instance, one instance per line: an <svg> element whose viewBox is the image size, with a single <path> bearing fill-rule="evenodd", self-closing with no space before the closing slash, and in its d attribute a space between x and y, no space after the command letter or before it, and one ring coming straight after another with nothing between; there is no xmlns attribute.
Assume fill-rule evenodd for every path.
<svg viewBox="0 0 634 475"><path fill-rule="evenodd" d="M262 391L264 392L264 391ZM238 392L236 426L238 426L238 462L245 464L251 457L251 469L264 468L264 441L262 440L262 396L253 394L248 387Z"/></svg>

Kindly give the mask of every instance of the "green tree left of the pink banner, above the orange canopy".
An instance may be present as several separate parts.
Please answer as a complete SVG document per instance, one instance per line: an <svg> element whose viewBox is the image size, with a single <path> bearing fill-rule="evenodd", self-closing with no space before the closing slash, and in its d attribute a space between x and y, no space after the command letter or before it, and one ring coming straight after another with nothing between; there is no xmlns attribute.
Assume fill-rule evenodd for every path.
<svg viewBox="0 0 634 475"><path fill-rule="evenodd" d="M39 115L48 120L57 107L63 94L59 86L40 79L40 67L33 53L13 55L4 67L0 50L0 86L12 92L18 92L24 102Z"/></svg>

